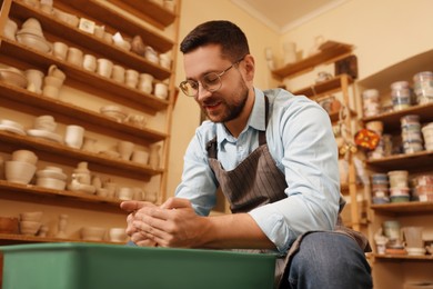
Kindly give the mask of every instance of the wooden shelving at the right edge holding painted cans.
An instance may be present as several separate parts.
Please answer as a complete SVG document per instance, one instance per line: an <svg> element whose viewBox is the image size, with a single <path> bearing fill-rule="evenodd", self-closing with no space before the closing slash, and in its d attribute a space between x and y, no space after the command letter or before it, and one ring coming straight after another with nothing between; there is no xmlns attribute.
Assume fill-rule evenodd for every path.
<svg viewBox="0 0 433 289"><path fill-rule="evenodd" d="M380 91L382 100L389 100L390 86L394 81L405 80L412 82L412 77L420 71L433 70L433 50L422 52L405 59L377 73L360 80L361 89L374 88ZM433 103L413 106L400 111L391 111L374 117L363 118L362 121L383 121L384 133L400 134L400 119L406 114L419 114L422 124L433 121ZM411 177L433 171L433 151L419 151L415 153L400 153L380 159L366 159L367 170L373 172L387 172L391 170L407 170ZM397 220L401 227L421 226L426 240L433 239L433 202L391 202L384 205L370 205L372 222L369 226L370 242L374 245L373 236L386 220ZM374 247L374 246L372 246ZM407 255L379 255L372 253L374 288L405 288L406 283L429 281L433 282L433 257Z"/></svg>

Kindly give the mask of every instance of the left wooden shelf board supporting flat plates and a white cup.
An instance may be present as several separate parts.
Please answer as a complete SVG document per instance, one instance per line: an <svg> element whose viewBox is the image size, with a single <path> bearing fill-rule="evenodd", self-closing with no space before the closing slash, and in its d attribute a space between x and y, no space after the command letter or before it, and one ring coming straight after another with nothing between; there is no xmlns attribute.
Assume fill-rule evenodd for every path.
<svg viewBox="0 0 433 289"><path fill-rule="evenodd" d="M91 153L78 149L72 149L61 143L51 140L46 140L36 137L24 137L16 133L0 131L0 147L13 144L16 148L27 148L30 150L43 151L49 155L57 155L59 159L68 166L77 166L79 161L89 161L93 165L99 165L100 170L117 171L117 175L127 178L147 179L151 176L157 176L163 172L162 169L152 169L149 166L134 163L132 161L123 161L121 159L109 158L100 153ZM119 168L122 168L119 170Z"/></svg>

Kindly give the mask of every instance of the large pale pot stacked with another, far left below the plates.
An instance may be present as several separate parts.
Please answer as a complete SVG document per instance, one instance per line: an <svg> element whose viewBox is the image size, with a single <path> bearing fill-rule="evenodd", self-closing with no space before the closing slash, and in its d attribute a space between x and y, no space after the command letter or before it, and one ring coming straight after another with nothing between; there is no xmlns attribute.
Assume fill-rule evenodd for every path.
<svg viewBox="0 0 433 289"><path fill-rule="evenodd" d="M30 150L16 150L4 165L4 177L10 182L28 185L37 170L38 156Z"/></svg>

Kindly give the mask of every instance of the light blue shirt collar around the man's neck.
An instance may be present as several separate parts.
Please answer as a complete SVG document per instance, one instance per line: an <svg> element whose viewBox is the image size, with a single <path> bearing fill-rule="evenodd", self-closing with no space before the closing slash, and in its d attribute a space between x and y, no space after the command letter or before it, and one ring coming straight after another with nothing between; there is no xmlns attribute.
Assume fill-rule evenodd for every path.
<svg viewBox="0 0 433 289"><path fill-rule="evenodd" d="M254 88L255 101L251 111L250 118L246 122L245 128L241 133L248 130L250 127L255 130L265 130L265 106L264 106L264 93L260 89ZM225 129L223 123L216 123L216 140L221 144L223 141L235 141L235 139Z"/></svg>

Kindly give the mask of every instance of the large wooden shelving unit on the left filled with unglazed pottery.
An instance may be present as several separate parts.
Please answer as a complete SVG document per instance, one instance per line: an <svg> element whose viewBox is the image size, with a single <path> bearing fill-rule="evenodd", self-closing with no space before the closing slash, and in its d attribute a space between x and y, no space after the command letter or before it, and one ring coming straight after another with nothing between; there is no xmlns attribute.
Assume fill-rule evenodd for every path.
<svg viewBox="0 0 433 289"><path fill-rule="evenodd" d="M122 180L131 180L131 186L144 186L151 182L155 191L158 191L158 201L164 200L172 110L177 94L174 83L175 43L178 42L181 2L180 0L174 2L174 11L168 10L150 0L110 0L107 2L56 0L53 3L56 9L94 21L98 26L104 26L108 32L114 33L119 31L125 39L140 36L144 40L144 44L152 47L159 53L170 52L172 54L172 67L168 69L147 60L144 56L109 44L91 33L60 21L53 14L46 13L26 1L0 1L0 31L3 31L8 17L18 22L19 27L28 18L36 18L41 23L44 38L48 41L62 41L69 47L81 49L84 53L91 53L97 58L110 59L125 69L134 69L140 73L150 73L155 78L155 82L164 81L169 86L169 98L167 100L160 99L152 93L131 89L123 83L59 60L51 53L42 53L31 47L3 38L2 33L0 33L1 63L21 70L39 69L41 71L48 71L50 66L56 64L67 74L64 87L70 90L66 92L66 94L69 93L67 97L52 99L0 81L0 109L4 109L8 112L16 111L17 118L22 118L24 114L27 122L33 117L51 114L61 126L79 124L84 127L87 132L103 136L102 141L107 141L107 139L112 141L128 140L142 148L153 143L162 144L161 165L159 168L124 161L107 155L72 149L61 142L13 134L7 131L0 131L0 153L7 156L17 149L30 149L43 162L70 169L73 169L80 161L87 161L92 172L110 176L114 179L119 177ZM74 96L71 94L74 91L82 92L81 98L84 98L84 101L83 99L75 100ZM121 123L101 114L94 104L84 104L88 100L90 103L115 103L131 111L143 112L149 119L155 120L153 123L150 121L151 124L145 127ZM42 168L38 167L38 169ZM66 172L68 173L68 171ZM13 209L17 216L23 210L21 205L22 208L29 208L29 206L34 205L34 210L39 208L38 206L50 208L51 215L54 215L57 210L59 210L58 213L61 213L62 210L69 210L79 215L88 212L89 216L101 213L103 216L101 219L112 222L111 227L124 226L125 223L125 212L120 210L120 200L118 199L68 190L44 189L34 185L21 186L9 183L6 180L0 180L0 199L17 205L17 208ZM10 208L8 211L10 211ZM91 217L89 218L92 219ZM74 226L79 228L80 223ZM85 223L85 226L89 226L89 223ZM75 232L73 235L77 236ZM41 239L39 237L20 235L0 235L0 245L33 241L64 240L52 237ZM81 240L73 237L67 241Z"/></svg>

